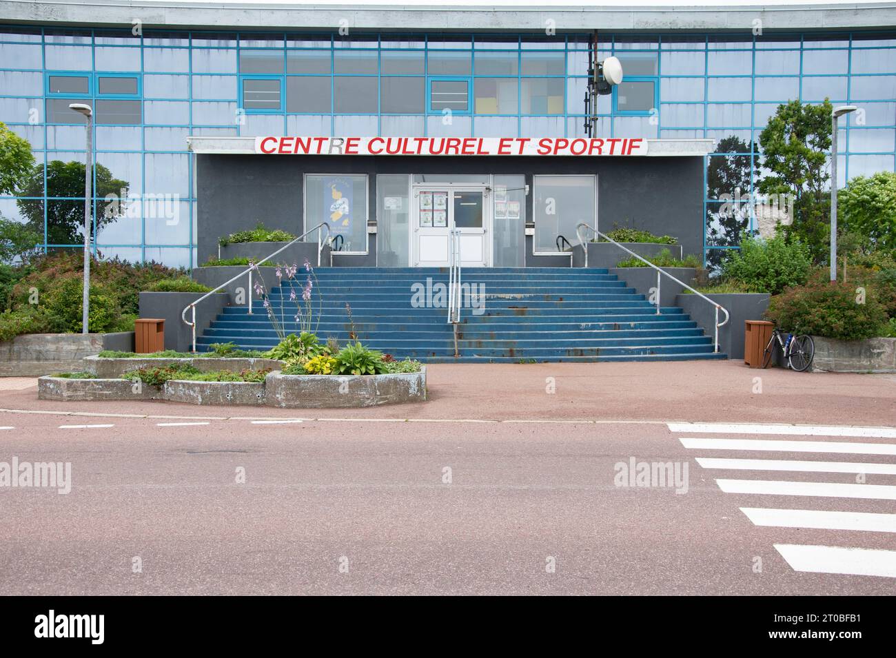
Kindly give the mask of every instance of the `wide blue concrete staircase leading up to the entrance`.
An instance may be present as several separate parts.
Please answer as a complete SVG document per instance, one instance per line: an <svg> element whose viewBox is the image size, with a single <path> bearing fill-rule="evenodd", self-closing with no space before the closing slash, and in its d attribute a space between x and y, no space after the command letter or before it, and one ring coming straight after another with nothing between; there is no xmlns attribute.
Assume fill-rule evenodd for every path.
<svg viewBox="0 0 896 658"><path fill-rule="evenodd" d="M607 269L464 268L461 283L485 292L484 308L465 297L459 332L460 357L454 356L447 308L439 304L448 270L439 268L322 268L316 270L314 308L323 295L317 335L349 339L354 325L360 341L396 358L426 363L517 363L554 361L682 361L724 359L680 308L659 315L644 295L626 287ZM299 273L302 278L302 272ZM412 287L417 285L417 287ZM295 284L301 295L300 282ZM428 305L412 303L432 291ZM288 332L297 332L289 284L271 290L271 306L282 312ZM351 320L346 304L351 308ZM438 307L433 307L438 306ZM233 342L245 349L277 344L267 313L258 303L227 307L198 339L199 350Z"/></svg>

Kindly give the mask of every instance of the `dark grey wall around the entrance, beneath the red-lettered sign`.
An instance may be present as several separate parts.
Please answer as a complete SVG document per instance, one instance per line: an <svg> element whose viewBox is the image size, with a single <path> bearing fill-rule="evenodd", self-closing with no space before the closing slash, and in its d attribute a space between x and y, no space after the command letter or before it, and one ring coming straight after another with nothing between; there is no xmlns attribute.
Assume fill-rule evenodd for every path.
<svg viewBox="0 0 896 658"><path fill-rule="evenodd" d="M659 235L675 235L685 253L702 251L703 158L538 158L414 156L196 156L199 205L199 261L218 251L218 238L265 226L293 233L304 230L302 178L305 173L368 174L368 216L376 217L374 174L597 174L600 230L634 226ZM531 218L531 199L526 199ZM373 235L370 236L373 238ZM574 236L571 236L572 240ZM530 249L530 248L529 248ZM372 264L367 258L336 257L338 265ZM568 262L565 257L564 263ZM530 263L527 259L527 264Z"/></svg>

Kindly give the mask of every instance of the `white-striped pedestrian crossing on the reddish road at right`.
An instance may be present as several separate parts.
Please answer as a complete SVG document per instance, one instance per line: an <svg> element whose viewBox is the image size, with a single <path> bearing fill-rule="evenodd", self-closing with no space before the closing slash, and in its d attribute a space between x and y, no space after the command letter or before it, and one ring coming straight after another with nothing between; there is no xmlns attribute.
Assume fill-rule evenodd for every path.
<svg viewBox="0 0 896 658"><path fill-rule="evenodd" d="M874 533L866 535L874 537L881 534L887 545L896 547L896 541L891 541L896 539L892 538L896 533L896 513L892 513L896 483L866 483L867 475L896 475L896 462L887 459L896 457L896 428L762 423L668 423L668 428L676 435L713 435L677 438L685 449L700 455L694 459L701 468L710 473L724 471L731 476L716 478L720 491L742 498L777 496L788 500L784 508L740 507L754 526L831 531L831 544L846 543L842 541L843 532ZM769 435L809 438L764 438ZM745 457L732 457L736 451ZM767 454L754 458L750 453ZM807 459L806 453L821 458ZM827 461L823 458L825 455L856 460ZM780 479L764 479L760 473L779 474ZM757 477L752 477L753 474ZM842 474L847 474L849 480L854 476L855 482L817 480L836 479L835 474L840 474L841 479ZM879 509L838 508L844 504ZM835 534L838 531L840 534ZM849 543L861 542L850 539ZM896 577L896 550L827 544L825 539L823 544L782 542L773 546L795 571Z"/></svg>

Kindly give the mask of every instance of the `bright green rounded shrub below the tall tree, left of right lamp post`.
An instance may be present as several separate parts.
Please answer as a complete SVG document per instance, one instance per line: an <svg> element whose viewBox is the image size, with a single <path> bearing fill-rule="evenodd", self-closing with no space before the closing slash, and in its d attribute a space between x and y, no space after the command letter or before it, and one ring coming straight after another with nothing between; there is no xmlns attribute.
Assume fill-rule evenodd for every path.
<svg viewBox="0 0 896 658"><path fill-rule="evenodd" d="M809 277L809 248L783 235L765 240L744 235L740 249L732 249L722 262L722 278L737 280L752 293L778 295L788 286L802 286Z"/></svg>

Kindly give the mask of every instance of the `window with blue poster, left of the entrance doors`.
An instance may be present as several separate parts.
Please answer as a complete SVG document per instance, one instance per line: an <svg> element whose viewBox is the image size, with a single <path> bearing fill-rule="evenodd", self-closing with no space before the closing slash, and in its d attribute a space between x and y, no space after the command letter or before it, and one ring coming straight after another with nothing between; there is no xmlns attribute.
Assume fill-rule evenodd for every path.
<svg viewBox="0 0 896 658"><path fill-rule="evenodd" d="M322 221L330 225L332 235L342 235L343 252L366 252L366 175L306 175L305 226ZM315 242L317 235L306 240Z"/></svg>

